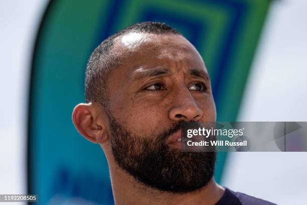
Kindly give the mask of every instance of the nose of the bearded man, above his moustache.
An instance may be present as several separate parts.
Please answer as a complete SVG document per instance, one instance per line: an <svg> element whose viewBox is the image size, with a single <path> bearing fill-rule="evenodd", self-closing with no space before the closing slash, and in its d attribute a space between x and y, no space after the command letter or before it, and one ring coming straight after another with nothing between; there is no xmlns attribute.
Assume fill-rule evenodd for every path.
<svg viewBox="0 0 307 205"><path fill-rule="evenodd" d="M203 111L197 106L195 98L187 87L174 93L169 118L174 121L199 121L203 118Z"/></svg>

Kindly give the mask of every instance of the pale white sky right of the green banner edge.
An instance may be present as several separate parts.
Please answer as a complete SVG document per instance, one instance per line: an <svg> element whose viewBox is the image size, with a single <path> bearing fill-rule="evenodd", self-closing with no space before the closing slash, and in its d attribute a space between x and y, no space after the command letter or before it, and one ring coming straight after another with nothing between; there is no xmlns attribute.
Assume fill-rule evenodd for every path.
<svg viewBox="0 0 307 205"><path fill-rule="evenodd" d="M307 121L307 1L273 1L238 121ZM230 153L223 185L307 204L307 152Z"/></svg>

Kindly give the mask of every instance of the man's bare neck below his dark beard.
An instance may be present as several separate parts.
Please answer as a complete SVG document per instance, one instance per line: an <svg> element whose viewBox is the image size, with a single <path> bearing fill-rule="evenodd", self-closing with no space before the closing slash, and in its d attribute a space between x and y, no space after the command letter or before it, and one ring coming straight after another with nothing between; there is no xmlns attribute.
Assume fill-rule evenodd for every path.
<svg viewBox="0 0 307 205"><path fill-rule="evenodd" d="M214 179L199 190L188 193L171 193L147 187L109 162L113 195L116 205L122 204L215 204L225 189ZM197 179L196 179L197 180Z"/></svg>

